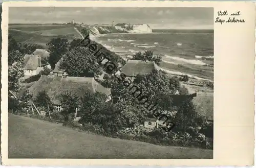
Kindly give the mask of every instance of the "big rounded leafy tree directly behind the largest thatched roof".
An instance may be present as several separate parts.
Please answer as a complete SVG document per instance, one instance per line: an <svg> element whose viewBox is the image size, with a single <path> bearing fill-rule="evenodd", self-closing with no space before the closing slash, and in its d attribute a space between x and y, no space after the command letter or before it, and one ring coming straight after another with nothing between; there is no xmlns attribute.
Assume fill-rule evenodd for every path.
<svg viewBox="0 0 256 168"><path fill-rule="evenodd" d="M78 46L66 53L60 61L60 68L73 77L94 77L102 74L102 66L87 47Z"/></svg>

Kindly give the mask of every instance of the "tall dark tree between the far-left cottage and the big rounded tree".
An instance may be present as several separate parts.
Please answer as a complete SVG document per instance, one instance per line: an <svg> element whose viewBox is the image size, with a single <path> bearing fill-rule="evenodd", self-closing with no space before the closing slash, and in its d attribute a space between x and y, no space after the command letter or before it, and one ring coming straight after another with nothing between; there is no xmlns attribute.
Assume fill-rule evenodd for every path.
<svg viewBox="0 0 256 168"><path fill-rule="evenodd" d="M68 50L68 39L66 38L52 38L47 44L47 51L50 53L49 64L52 69L55 68L55 64Z"/></svg>

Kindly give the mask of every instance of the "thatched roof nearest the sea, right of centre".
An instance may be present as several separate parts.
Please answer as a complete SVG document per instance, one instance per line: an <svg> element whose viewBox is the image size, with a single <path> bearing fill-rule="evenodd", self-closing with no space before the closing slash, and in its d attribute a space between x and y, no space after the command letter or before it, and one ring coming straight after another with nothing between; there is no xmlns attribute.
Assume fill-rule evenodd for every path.
<svg viewBox="0 0 256 168"><path fill-rule="evenodd" d="M150 74L154 68L157 70L160 69L160 67L153 61L128 60L120 71L126 76L135 77L138 74Z"/></svg>

